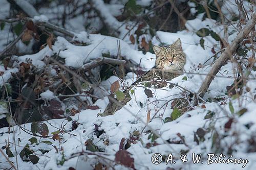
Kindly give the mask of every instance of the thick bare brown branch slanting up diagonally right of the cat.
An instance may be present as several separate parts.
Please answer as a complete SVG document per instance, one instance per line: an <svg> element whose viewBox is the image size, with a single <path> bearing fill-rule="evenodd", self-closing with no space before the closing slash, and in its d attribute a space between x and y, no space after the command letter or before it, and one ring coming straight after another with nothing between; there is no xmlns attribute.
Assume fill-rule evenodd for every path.
<svg viewBox="0 0 256 170"><path fill-rule="evenodd" d="M237 50L238 46L240 45L240 42L242 42L242 40L250 33L250 31L254 28L255 24L256 24L256 12L253 12L249 22L244 26L241 32L233 40L232 44L226 47L226 50L216 60L210 72L207 74L200 89L197 92L199 96L201 96L201 98L203 98L205 92L210 86L211 81L214 80L220 68L227 62L228 59L231 58L232 54Z"/></svg>

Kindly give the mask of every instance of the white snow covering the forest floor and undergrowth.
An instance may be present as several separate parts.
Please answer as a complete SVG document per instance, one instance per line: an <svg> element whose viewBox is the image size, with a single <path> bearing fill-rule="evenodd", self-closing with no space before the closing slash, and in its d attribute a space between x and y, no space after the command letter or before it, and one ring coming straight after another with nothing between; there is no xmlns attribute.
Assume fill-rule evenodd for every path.
<svg viewBox="0 0 256 170"><path fill-rule="evenodd" d="M150 1L139 1L146 5ZM111 8L110 8L111 9ZM108 105L108 97L104 96L94 103L98 106L96 110L83 110L74 116L71 120L68 119L51 119L44 122L49 128L49 134L63 129L66 133L62 135L60 140L51 138L36 137L36 142L29 141L34 137L26 133L20 128L31 130L31 123L0 129L0 146L4 147L6 143L10 143L9 149L14 157L9 157L9 160L19 169L94 169L94 165L98 162L112 166L114 169L125 169L127 167L115 163L115 154L120 149L120 142L125 138L125 142L132 141L130 148L127 151L134 159L134 167L136 169L167 169L167 167L175 169L255 169L256 168L256 153L250 152L251 147L256 147L253 143L256 132L256 71L251 70L246 82L246 87L249 90L243 90L239 98L230 98L227 95L227 86L230 86L237 69L237 64L228 61L217 74L214 81L209 86L208 91L204 96L204 101L193 110L185 112L177 119L166 122L166 118L171 116L173 112L172 101L181 96L188 97L190 92L197 92L214 62L214 53L220 48L219 41L216 41L210 35L204 37L204 48L200 45L200 39L196 32L201 28L209 28L224 35L224 26L217 25L217 21L212 19L201 19L198 16L196 19L189 20L186 23L186 30L177 33L168 33L158 31L153 37L153 44L172 44L177 38L182 41L182 48L186 54L187 62L185 65L185 73L169 83L175 84L169 88L169 84L161 89L145 87L139 85L134 87L131 93L131 101L128 102L122 109L118 110L114 115L100 116ZM228 42L237 35L237 30L232 26L227 28L229 37ZM1 33L1 32L0 32ZM2 33L1 33L2 36ZM5 35L4 35L5 36ZM46 56L52 56L54 53L59 53L59 57L65 59L67 66L80 68L84 63L98 58L103 53L109 53L111 56L118 55L117 40L120 40L121 54L126 59L140 63L145 69L150 69L155 63L155 54L147 52L143 54L137 51L127 43L126 40L121 40L115 37L103 36L100 34L87 34L86 32L77 33L79 41L87 42L87 46L74 45L63 37L57 37L53 45L53 50L49 47L44 48L37 54L25 55L17 57L20 62L25 62L27 58L32 60L32 64L38 67L44 66L41 61ZM2 42L2 41L0 41ZM2 50L2 48L0 48ZM247 56L251 57L252 51L247 52ZM216 57L219 57L220 53ZM17 72L17 68L9 68L3 71L3 78L6 82L11 78L10 72ZM134 74L129 73L125 81L132 83ZM112 76L108 80L101 82L106 91L110 92L111 83L119 80L118 77ZM3 86L3 80L0 79L0 85ZM100 86L99 85L99 86ZM180 87L182 88L180 88ZM153 93L152 98L147 98L144 90L150 89ZM184 91L184 89L187 89ZM98 88L101 89L101 88ZM95 91L95 95L100 93ZM53 93L46 91L41 94L45 100L54 98ZM218 101L218 99L222 99ZM244 109L244 114L241 110ZM147 115L150 114L152 121L147 124ZM231 121L232 119L232 121ZM79 124L73 130L72 122L76 120ZM231 121L231 123L230 123ZM228 126L228 122L231 124ZM103 132L98 135L99 132ZM254 137L254 138L253 138ZM90 153L89 145L85 144L88 139L91 139L97 149L101 152ZM254 139L254 140L253 140ZM49 142L45 142L49 141ZM33 151L33 155L39 157L36 164L22 160L19 156L25 145ZM88 142L87 142L88 143ZM7 149L3 149L6 153ZM252 149L253 150L253 149ZM152 156L156 153L168 157L170 153L174 156L176 163L166 165L163 161L160 164L152 163ZM187 154L187 161L182 163L180 154ZM193 163L192 155L202 154L199 163ZM230 159L238 158L244 161L234 163L211 163L207 164L208 155L216 153L219 156L221 153ZM5 155L6 156L6 155ZM7 161L3 154L0 156L0 168L9 168L10 162ZM167 158L166 158L167 159ZM214 158L212 158L214 159ZM248 159L248 163L245 160ZM218 158L216 158L218 160ZM223 160L223 158L221 159ZM202 163L203 162L203 163ZM170 169L169 168L169 169ZM127 168L128 169L128 168Z"/></svg>

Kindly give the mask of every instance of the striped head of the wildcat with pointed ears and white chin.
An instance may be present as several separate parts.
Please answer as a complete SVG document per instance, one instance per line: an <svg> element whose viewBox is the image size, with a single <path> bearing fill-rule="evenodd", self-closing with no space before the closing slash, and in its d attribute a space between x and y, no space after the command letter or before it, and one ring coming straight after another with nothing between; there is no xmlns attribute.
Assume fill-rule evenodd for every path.
<svg viewBox="0 0 256 170"><path fill-rule="evenodd" d="M181 40L177 39L169 46L154 46L156 54L156 68L170 71L182 72L186 63L186 55L182 51Z"/></svg>

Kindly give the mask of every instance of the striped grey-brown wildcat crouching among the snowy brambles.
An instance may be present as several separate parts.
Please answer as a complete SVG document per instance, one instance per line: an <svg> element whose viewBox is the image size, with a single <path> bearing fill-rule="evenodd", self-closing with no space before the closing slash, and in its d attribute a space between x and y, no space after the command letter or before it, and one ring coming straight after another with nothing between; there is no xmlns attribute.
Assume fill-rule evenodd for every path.
<svg viewBox="0 0 256 170"><path fill-rule="evenodd" d="M141 76L137 81L135 81L132 85L141 82L141 81L149 81L152 79L162 79L162 80L172 80L173 78L182 75L183 68L186 62L186 55L182 51L181 40L177 39L172 45L169 46L154 46L154 52L156 54L156 63L155 67L150 71L147 71L146 74ZM166 84L152 82L151 85L157 87L163 87ZM105 108L105 111L102 115L112 115L117 110L120 110L122 106L124 106L127 102L131 100L129 95L130 89L126 89L123 92L125 93L125 99L123 101L114 100L114 94L111 94L109 101L110 103ZM176 105L178 108L183 108L183 100L176 100Z"/></svg>

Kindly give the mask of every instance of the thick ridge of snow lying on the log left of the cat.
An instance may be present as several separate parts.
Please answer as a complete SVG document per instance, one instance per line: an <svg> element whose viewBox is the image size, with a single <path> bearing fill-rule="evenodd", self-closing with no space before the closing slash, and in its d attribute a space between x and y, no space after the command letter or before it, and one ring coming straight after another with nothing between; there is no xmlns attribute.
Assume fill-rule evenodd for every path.
<svg viewBox="0 0 256 170"><path fill-rule="evenodd" d="M59 53L59 57L65 58L66 65L75 68L81 67L91 59L102 57L103 53L109 53L111 56L118 55L118 38L102 36L99 34L89 34L91 44L87 46L77 46L68 42L63 37L57 37L53 45L53 52ZM133 50L126 42L120 40L121 55L126 59L131 59L139 64L142 60L142 67L150 69L154 66L155 58L152 53L146 53Z"/></svg>

